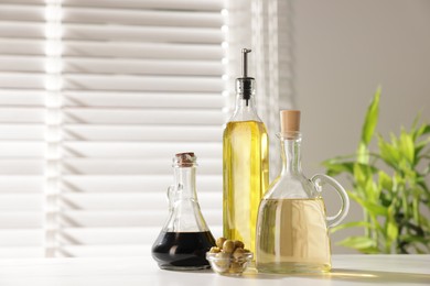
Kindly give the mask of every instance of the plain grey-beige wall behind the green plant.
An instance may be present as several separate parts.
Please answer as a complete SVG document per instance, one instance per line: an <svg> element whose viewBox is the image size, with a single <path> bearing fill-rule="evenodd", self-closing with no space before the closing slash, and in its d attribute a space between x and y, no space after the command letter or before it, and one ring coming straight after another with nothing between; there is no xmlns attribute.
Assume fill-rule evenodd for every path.
<svg viewBox="0 0 430 286"><path fill-rule="evenodd" d="M295 101L309 176L324 172L323 160L355 151L378 85L381 134L409 127L420 110L429 120L430 1L295 0L293 8ZM334 210L329 200L329 211ZM353 206L347 220L359 218ZM340 232L333 242L351 233ZM352 251L334 246L333 252Z"/></svg>

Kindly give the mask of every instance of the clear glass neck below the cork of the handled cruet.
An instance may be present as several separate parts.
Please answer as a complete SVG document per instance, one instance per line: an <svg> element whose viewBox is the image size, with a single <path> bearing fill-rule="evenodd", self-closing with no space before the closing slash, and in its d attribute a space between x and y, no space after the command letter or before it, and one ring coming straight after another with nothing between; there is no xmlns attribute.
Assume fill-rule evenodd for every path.
<svg viewBox="0 0 430 286"><path fill-rule="evenodd" d="M281 175L298 175L302 173L300 144L301 138L281 138L282 172Z"/></svg>

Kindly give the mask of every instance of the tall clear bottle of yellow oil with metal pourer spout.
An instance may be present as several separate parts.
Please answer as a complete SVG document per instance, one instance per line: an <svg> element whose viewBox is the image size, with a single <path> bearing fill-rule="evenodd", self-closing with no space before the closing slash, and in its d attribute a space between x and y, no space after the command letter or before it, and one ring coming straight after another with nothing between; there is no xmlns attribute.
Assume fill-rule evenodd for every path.
<svg viewBox="0 0 430 286"><path fill-rule="evenodd" d="M255 79L248 77L244 48L243 77L236 79L236 109L223 139L224 237L255 251L258 205L269 185L269 140L255 107Z"/></svg>

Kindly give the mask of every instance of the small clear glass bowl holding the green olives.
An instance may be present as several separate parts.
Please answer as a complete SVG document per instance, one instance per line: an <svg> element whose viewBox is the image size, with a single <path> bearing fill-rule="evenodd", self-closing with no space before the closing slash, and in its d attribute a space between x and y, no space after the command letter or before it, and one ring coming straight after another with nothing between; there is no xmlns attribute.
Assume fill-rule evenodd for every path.
<svg viewBox="0 0 430 286"><path fill-rule="evenodd" d="M251 252L244 253L239 258L233 257L227 253L206 253L206 260L209 262L214 272L222 275L241 275L252 261Z"/></svg>

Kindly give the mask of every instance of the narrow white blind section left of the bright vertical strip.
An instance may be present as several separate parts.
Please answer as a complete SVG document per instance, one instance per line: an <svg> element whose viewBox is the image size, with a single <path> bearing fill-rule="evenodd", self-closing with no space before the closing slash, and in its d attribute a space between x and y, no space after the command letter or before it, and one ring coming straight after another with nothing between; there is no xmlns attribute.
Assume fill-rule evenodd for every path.
<svg viewBox="0 0 430 286"><path fill-rule="evenodd" d="M43 26L43 14L37 3L0 2L0 257L44 253L43 29L12 29Z"/></svg>

